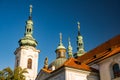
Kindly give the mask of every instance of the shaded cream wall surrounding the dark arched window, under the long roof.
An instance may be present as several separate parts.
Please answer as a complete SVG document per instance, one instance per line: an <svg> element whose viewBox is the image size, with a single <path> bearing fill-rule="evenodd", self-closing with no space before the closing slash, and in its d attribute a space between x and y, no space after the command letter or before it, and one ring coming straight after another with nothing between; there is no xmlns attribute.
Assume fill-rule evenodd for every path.
<svg viewBox="0 0 120 80"><path fill-rule="evenodd" d="M100 80L120 80L120 77L114 78L113 65L115 63L119 64L120 68L120 53L99 63Z"/></svg>

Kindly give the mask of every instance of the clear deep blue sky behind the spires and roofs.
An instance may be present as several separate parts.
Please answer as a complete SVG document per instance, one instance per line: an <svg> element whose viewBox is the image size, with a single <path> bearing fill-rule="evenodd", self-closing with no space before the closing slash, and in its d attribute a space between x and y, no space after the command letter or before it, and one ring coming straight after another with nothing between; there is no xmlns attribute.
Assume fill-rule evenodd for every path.
<svg viewBox="0 0 120 80"><path fill-rule="evenodd" d="M59 33L63 44L71 38L76 52L77 21L81 23L85 51L120 34L120 0L0 0L0 70L14 68L14 51L24 36L29 5L33 5L34 38L38 41L39 69L44 58L56 58Z"/></svg>

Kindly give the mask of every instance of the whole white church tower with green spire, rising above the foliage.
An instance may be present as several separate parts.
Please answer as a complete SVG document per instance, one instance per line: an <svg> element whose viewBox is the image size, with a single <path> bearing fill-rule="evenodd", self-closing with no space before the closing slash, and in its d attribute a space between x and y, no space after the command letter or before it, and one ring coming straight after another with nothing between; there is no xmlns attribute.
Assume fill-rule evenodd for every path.
<svg viewBox="0 0 120 80"><path fill-rule="evenodd" d="M33 38L32 5L30 15L25 25L24 37L19 40L19 47L15 51L15 67L27 68L26 80L35 80L38 69L39 50L37 41Z"/></svg>

